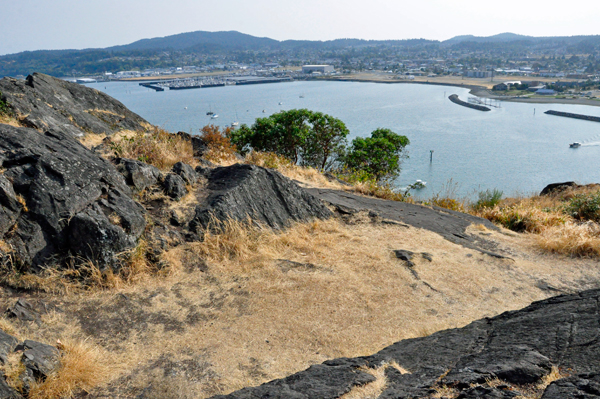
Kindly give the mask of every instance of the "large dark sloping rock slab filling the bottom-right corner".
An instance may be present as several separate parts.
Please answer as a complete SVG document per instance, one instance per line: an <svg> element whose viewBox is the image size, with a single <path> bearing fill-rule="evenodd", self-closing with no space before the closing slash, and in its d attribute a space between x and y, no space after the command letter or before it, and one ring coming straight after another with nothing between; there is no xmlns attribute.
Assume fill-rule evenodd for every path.
<svg viewBox="0 0 600 399"><path fill-rule="evenodd" d="M597 398L599 303L600 289L554 297L460 329L400 341L372 356L330 360L281 380L214 398L335 399L357 385L357 380L349 377L351 373L390 362L409 374L388 367L387 387L379 399L432 397L440 384L458 389L459 398L511 398L514 389L470 384L485 385L486 378L499 378L518 388L538 383L551 366L588 374L554 382L544 399Z"/></svg>

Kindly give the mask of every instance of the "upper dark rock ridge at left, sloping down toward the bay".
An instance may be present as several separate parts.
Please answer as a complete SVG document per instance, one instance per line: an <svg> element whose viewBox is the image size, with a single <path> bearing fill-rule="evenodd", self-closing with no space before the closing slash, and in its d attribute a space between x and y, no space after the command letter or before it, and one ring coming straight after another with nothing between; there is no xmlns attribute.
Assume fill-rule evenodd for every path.
<svg viewBox="0 0 600 399"><path fill-rule="evenodd" d="M98 91L34 73L26 80L0 80L2 99L25 126L60 130L72 136L143 130L147 122L122 103Z"/></svg>

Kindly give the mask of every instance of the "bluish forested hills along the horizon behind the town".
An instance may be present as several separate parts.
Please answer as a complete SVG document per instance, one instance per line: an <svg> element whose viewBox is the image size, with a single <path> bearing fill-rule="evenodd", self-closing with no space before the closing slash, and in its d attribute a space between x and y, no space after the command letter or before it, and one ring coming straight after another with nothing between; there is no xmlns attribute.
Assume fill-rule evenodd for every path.
<svg viewBox="0 0 600 399"><path fill-rule="evenodd" d="M520 55L597 54L600 36L531 37L503 33L490 37L457 36L444 42L426 39L330 41L255 37L236 31L188 32L143 39L104 49L40 50L0 56L0 77L43 72L53 76L81 76L102 72L186 65L204 66L230 61L300 65L327 60L344 65L349 60L368 64L373 59L444 58L452 51L484 51Z"/></svg>

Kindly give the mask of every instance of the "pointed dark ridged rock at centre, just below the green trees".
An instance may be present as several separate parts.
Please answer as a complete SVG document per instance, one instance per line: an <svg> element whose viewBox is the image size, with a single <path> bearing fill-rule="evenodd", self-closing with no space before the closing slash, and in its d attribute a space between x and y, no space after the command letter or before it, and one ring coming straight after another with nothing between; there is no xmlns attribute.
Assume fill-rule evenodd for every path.
<svg viewBox="0 0 600 399"><path fill-rule="evenodd" d="M254 165L215 168L208 175L210 195L196 207L192 230L206 228L214 217L253 222L281 229L293 221L332 216L325 205L279 172Z"/></svg>

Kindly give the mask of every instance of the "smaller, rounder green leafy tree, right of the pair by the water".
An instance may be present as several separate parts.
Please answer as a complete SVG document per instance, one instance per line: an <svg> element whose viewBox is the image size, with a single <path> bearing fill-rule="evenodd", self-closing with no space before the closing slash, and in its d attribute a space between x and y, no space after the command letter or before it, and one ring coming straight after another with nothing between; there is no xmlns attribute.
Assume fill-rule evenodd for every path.
<svg viewBox="0 0 600 399"><path fill-rule="evenodd" d="M401 160L408 157L404 152L408 144L406 136L379 128L371 137L352 140L344 165L350 170L362 170L377 181L391 179L400 174Z"/></svg>

